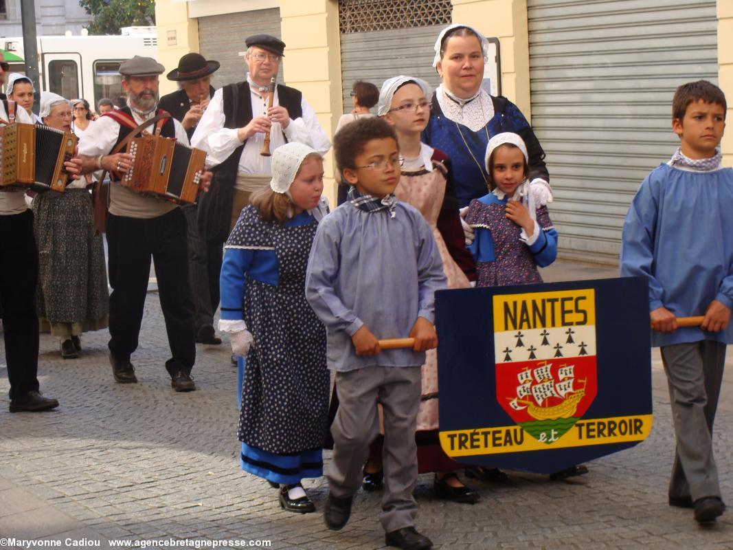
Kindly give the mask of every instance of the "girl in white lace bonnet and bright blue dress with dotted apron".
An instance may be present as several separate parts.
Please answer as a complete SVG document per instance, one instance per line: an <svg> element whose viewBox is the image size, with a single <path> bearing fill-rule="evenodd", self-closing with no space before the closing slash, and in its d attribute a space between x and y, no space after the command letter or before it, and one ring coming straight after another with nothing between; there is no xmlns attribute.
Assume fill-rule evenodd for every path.
<svg viewBox="0 0 733 550"><path fill-rule="evenodd" d="M273 152L272 174L224 245L218 328L239 356L240 466L279 487L284 510L308 513L315 507L301 480L323 475L330 385L325 329L304 290L317 224L328 212L323 158L284 144Z"/></svg>

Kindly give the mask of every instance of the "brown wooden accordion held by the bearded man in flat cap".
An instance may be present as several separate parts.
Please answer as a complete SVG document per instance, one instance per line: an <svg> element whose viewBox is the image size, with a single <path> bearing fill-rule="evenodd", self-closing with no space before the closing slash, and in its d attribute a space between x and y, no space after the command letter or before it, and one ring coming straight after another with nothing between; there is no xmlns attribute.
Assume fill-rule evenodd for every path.
<svg viewBox="0 0 733 550"><path fill-rule="evenodd" d="M133 167L122 185L142 194L192 204L199 193L206 152L186 147L174 138L146 134L128 144Z"/></svg>

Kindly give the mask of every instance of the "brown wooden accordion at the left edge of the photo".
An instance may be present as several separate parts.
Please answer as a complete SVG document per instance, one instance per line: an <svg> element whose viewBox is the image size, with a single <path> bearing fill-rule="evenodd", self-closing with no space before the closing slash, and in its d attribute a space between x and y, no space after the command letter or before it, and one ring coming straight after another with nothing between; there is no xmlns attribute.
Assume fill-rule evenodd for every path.
<svg viewBox="0 0 733 550"><path fill-rule="evenodd" d="M0 128L0 188L27 186L65 191L64 163L74 155L77 137L47 126L16 122Z"/></svg>

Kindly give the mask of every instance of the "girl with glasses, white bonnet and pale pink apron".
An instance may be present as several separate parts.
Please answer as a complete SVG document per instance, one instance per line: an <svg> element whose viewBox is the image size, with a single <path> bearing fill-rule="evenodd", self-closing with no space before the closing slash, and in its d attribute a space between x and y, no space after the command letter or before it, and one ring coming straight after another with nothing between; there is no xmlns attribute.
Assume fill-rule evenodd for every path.
<svg viewBox="0 0 733 550"><path fill-rule="evenodd" d="M448 287L468 288L471 284L462 268L474 276L475 263L463 241L450 160L441 150L420 140L420 133L430 117L431 95L432 89L420 78L404 75L389 78L382 84L377 114L394 128L399 153L404 160L394 194L397 199L417 208L430 224ZM443 452L438 441L438 357L435 350L425 353L421 386L416 433L418 471L421 474L435 472L433 489L438 498L473 504L479 500L479 494L461 483L454 471L462 466ZM382 486L382 443L380 436L369 449L362 482L367 491Z"/></svg>

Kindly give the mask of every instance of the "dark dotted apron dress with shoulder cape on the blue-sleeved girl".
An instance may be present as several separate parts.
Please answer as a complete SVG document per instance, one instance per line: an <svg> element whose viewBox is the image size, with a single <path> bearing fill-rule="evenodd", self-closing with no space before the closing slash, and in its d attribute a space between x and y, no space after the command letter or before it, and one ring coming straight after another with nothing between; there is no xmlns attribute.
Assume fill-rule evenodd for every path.
<svg viewBox="0 0 733 550"><path fill-rule="evenodd" d="M248 353L237 435L279 455L323 447L329 375L325 329L305 297L306 266L317 224L267 224L243 211L229 241L274 248L278 285L246 280L243 313L255 347Z"/></svg>

